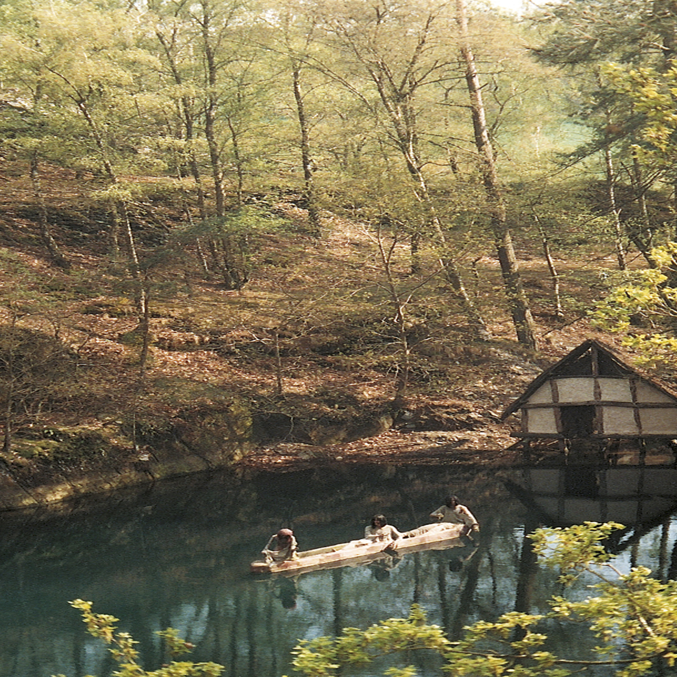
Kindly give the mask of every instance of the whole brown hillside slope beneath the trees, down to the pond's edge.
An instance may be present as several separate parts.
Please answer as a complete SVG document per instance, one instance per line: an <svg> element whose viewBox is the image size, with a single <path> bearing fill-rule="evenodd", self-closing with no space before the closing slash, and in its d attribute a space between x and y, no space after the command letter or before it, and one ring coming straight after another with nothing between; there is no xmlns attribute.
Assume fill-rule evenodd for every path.
<svg viewBox="0 0 677 677"><path fill-rule="evenodd" d="M295 196L267 196L286 225L251 238L249 280L229 290L200 269L194 245L172 241L185 213L158 188L131 210L150 294L150 345L141 364L138 287L125 261L108 255L109 217L88 198L95 179L83 182L62 169L41 177L47 227L68 270L49 258L26 167L9 163L0 180L5 395L17 382L12 355L35 362L20 379L11 446L0 460L32 485L50 473L100 465L103 457L117 464L152 460L167 447L204 457L225 445L223 462L246 456L240 464L257 467L327 458L410 461L420 454L459 462L483 462L489 452L505 458L502 450L514 439L500 412L542 368L596 335L584 309L602 289L600 270L614 261L611 248L594 256L583 248L557 261L570 300L561 321L552 313L544 261L527 257L531 243L521 243L540 327L534 355L515 342L495 259L459 259L494 334L479 343L449 286L427 278L431 270L410 275L406 242L382 240L395 252L397 291L412 294L409 388L393 405L402 346L373 228L325 213L322 237L314 238ZM19 329L28 332L22 341ZM56 341L50 359L61 366L53 377L43 368L47 347L41 343L40 354L26 347L35 347L36 337L44 345ZM215 462L207 458L204 468Z"/></svg>

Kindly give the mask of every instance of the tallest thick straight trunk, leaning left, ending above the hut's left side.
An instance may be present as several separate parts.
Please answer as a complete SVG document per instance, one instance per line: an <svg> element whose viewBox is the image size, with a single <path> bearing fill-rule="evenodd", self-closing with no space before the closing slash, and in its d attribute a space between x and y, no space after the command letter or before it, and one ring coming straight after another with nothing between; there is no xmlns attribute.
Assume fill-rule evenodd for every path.
<svg viewBox="0 0 677 677"><path fill-rule="evenodd" d="M494 243L503 276L508 307L512 315L512 323L517 331L517 340L528 348L536 350L538 349L536 324L533 322L527 295L519 274L512 235L506 218L505 202L500 191L494 147L491 139L489 139L487 129L481 83L470 44L465 0L456 0L456 23L460 35L460 52L466 67L465 79L470 95L475 146L481 162L482 182L487 196L487 206L489 207Z"/></svg>

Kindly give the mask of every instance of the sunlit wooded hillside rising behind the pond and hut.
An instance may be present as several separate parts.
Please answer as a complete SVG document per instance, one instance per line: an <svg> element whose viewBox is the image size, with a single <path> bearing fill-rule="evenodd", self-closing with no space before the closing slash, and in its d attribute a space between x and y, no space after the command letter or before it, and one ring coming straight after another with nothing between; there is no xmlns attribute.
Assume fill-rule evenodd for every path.
<svg viewBox="0 0 677 677"><path fill-rule="evenodd" d="M589 336L674 380L674 0L0 17L3 471L498 449Z"/></svg>

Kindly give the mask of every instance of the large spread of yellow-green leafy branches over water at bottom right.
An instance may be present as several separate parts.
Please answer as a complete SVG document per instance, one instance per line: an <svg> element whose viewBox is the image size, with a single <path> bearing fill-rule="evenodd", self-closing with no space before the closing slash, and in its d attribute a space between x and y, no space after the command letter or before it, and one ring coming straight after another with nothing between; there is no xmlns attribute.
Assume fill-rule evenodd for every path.
<svg viewBox="0 0 677 677"><path fill-rule="evenodd" d="M672 668L677 657L677 582L661 583L643 567L622 574L603 546L618 523L586 522L566 529L537 529L529 538L540 561L559 569L571 583L586 572L600 582L597 596L569 601L550 600L545 615L511 612L496 621L478 621L451 642L441 628L426 622L413 605L406 619L391 618L366 630L345 628L336 638L302 640L294 650L294 669L308 677L341 674L351 665L369 665L378 656L421 649L445 659L443 672L453 677L566 677L600 665L614 666L617 677L652 674L659 666ZM586 621L599 638L598 659L571 660L548 651L543 621L559 624ZM352 674L352 673L351 673ZM370 673L371 674L371 673ZM389 668L386 675L411 677L414 668Z"/></svg>

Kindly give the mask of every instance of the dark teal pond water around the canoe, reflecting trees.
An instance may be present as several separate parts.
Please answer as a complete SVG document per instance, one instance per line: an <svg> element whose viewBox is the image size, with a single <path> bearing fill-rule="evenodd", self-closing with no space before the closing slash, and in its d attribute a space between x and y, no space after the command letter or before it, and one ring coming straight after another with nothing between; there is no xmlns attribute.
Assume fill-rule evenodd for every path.
<svg viewBox="0 0 677 677"><path fill-rule="evenodd" d="M516 469L471 477L453 466L330 465L166 481L69 504L59 515L3 513L0 677L114 670L68 605L75 598L121 619L118 628L139 642L149 670L162 663L154 632L167 627L196 645L190 659L221 663L227 677L292 674L299 638L403 617L412 603L455 637L478 619L544 611L561 592L554 573L533 563L524 538L542 523L621 521L632 528L616 544L619 566L674 577L676 472ZM296 580L249 573L280 527L292 527L303 550L359 538L376 512L411 529L427 523L450 492L481 523L477 548L409 554L389 571L345 567ZM588 594L588 583L573 594ZM551 636L568 657L594 643L560 627ZM431 655L408 656L409 663L422 676L439 674Z"/></svg>

